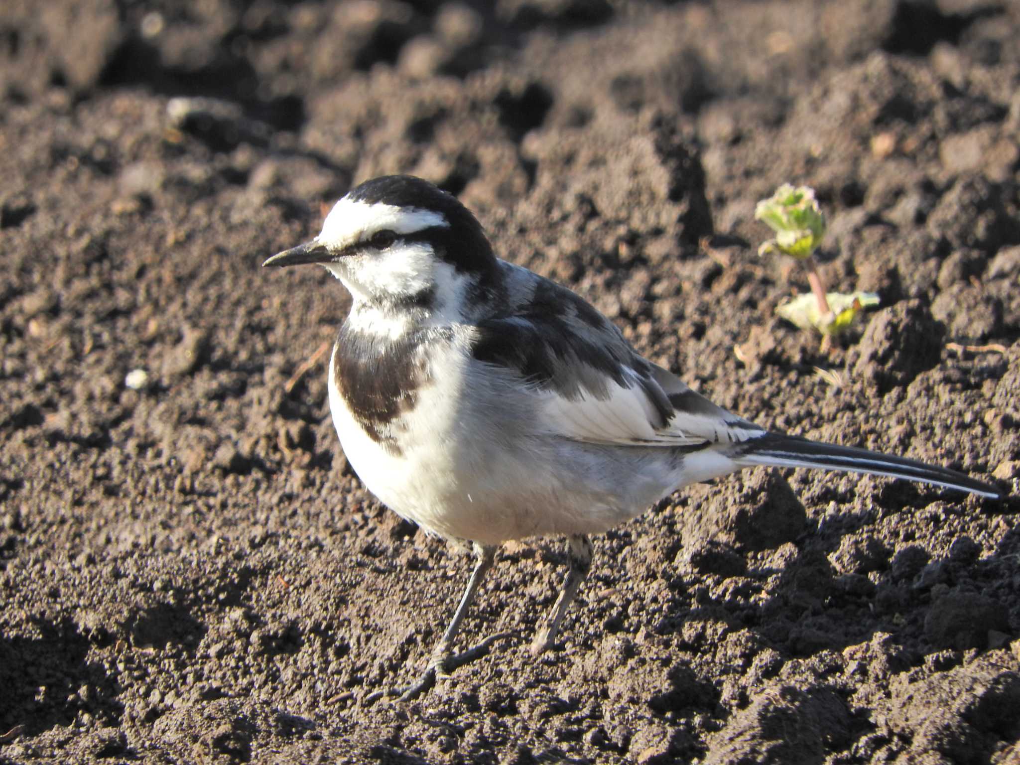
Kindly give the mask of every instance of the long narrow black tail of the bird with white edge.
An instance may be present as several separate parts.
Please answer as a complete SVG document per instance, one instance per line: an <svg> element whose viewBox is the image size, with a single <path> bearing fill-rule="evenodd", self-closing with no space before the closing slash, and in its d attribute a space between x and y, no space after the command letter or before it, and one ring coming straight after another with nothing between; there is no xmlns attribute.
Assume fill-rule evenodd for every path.
<svg viewBox="0 0 1020 765"><path fill-rule="evenodd" d="M958 489L993 500L1006 498L1006 493L998 487L974 480L971 477L935 465L892 457L867 449L824 444L808 441L796 436L765 434L757 439L749 439L741 444L732 459L742 467L767 465L772 467L818 467L824 470L846 470L874 475L890 475L922 483Z"/></svg>

